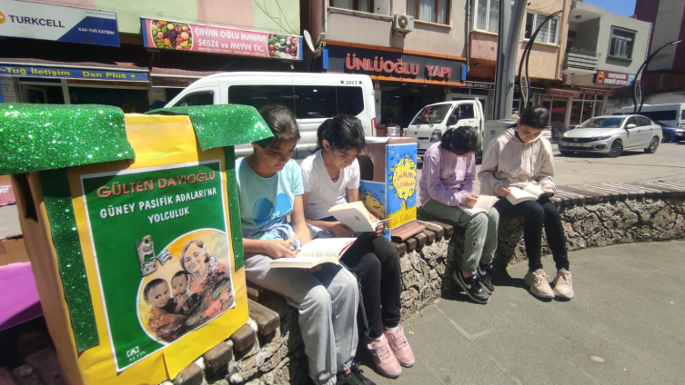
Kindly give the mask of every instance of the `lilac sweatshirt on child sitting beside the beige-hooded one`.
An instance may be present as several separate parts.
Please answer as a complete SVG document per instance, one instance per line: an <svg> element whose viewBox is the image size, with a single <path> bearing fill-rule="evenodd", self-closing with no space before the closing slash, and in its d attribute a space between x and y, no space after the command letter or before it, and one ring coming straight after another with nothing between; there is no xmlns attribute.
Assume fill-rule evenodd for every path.
<svg viewBox="0 0 685 385"><path fill-rule="evenodd" d="M463 206L469 193L476 193L476 155L468 158L445 150L440 143L428 148L423 158L419 200L431 199L448 206Z"/></svg>

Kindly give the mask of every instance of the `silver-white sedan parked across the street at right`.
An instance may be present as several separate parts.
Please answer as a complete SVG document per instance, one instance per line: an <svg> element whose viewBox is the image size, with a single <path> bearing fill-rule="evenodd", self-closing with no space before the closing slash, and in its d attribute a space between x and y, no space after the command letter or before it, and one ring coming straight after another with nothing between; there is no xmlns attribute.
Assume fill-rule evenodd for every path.
<svg viewBox="0 0 685 385"><path fill-rule="evenodd" d="M559 153L604 153L617 157L624 151L656 153L661 127L641 115L605 115L580 123L559 140Z"/></svg>

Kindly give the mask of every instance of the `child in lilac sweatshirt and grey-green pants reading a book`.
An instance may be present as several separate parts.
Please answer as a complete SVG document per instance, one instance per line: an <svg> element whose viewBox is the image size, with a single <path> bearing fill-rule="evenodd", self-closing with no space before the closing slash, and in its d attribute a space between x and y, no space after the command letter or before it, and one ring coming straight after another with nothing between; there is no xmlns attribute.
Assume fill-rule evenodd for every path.
<svg viewBox="0 0 685 385"><path fill-rule="evenodd" d="M495 290L491 263L497 250L499 212L492 197L476 195L478 128L457 127L442 134L423 159L419 199L428 214L466 228L464 252L452 278L468 298L488 303ZM476 206L479 206L476 211Z"/></svg>

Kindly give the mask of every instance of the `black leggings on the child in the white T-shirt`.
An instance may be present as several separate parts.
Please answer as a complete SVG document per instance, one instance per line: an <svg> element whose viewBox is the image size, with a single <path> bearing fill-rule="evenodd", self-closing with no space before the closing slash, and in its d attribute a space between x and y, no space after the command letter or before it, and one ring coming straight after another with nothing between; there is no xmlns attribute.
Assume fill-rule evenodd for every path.
<svg viewBox="0 0 685 385"><path fill-rule="evenodd" d="M397 327L401 282L399 254L395 246L382 236L365 232L340 261L357 275L361 283L362 311L365 311L365 321L368 321L364 334L376 340L383 334L384 326Z"/></svg>

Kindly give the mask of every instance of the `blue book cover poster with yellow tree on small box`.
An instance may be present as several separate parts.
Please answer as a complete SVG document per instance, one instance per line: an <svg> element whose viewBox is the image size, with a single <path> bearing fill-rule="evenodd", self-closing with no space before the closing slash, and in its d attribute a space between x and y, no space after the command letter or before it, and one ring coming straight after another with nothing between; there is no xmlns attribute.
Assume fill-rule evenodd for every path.
<svg viewBox="0 0 685 385"><path fill-rule="evenodd" d="M417 219L417 145L388 144L386 148L388 228Z"/></svg>

